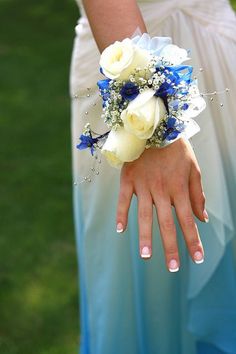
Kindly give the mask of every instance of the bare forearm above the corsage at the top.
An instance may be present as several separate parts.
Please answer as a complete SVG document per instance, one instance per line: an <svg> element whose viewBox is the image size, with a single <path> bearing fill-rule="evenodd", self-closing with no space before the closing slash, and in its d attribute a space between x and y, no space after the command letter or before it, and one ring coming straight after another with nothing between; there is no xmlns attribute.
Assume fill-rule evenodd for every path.
<svg viewBox="0 0 236 354"><path fill-rule="evenodd" d="M99 50L132 36L137 27L147 32L136 0L83 0Z"/></svg>

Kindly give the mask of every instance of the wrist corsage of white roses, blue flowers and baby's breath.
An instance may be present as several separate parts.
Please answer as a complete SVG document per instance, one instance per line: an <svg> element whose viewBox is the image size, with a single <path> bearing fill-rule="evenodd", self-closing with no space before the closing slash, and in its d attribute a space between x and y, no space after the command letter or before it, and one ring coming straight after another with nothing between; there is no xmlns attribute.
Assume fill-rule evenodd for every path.
<svg viewBox="0 0 236 354"><path fill-rule="evenodd" d="M101 54L98 81L102 119L108 131L92 132L86 124L78 149L101 150L108 162L121 167L149 147L165 147L179 137L191 138L200 128L195 118L206 107L193 68L182 63L188 52L168 37L147 33L126 38Z"/></svg>

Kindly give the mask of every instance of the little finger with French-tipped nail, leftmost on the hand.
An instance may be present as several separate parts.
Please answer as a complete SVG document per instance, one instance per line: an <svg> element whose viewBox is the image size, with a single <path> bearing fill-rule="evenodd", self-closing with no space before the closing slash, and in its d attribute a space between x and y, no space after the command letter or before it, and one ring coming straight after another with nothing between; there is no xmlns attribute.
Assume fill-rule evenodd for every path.
<svg viewBox="0 0 236 354"><path fill-rule="evenodd" d="M133 195L132 184L121 177L118 205L116 212L116 231L123 232L128 223L128 213Z"/></svg>

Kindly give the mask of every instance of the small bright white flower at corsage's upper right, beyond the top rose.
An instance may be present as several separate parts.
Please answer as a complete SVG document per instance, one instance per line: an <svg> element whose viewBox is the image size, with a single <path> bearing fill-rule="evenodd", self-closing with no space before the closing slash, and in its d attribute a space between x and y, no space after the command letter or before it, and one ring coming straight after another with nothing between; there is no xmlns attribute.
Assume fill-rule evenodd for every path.
<svg viewBox="0 0 236 354"><path fill-rule="evenodd" d="M180 65L184 61L190 59L186 49L180 48L174 44L165 46L160 53L160 57L165 61L170 62L172 65Z"/></svg>

